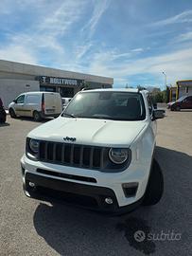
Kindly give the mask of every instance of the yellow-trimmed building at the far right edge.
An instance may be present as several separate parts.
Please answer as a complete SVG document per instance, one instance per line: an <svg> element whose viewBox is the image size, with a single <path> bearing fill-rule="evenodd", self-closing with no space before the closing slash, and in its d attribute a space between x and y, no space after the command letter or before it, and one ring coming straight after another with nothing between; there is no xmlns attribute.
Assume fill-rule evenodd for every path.
<svg viewBox="0 0 192 256"><path fill-rule="evenodd" d="M169 87L169 101L189 95L192 95L192 80L177 81L175 86Z"/></svg>

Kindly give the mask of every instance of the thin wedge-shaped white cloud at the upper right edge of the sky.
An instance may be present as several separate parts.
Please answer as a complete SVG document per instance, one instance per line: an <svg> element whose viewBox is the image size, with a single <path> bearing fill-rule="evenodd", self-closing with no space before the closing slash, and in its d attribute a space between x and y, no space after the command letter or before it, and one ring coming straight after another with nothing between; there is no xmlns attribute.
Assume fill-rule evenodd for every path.
<svg viewBox="0 0 192 256"><path fill-rule="evenodd" d="M192 22L192 9L185 10L180 14L161 20L152 24L152 26L166 26L177 23L191 23Z"/></svg>

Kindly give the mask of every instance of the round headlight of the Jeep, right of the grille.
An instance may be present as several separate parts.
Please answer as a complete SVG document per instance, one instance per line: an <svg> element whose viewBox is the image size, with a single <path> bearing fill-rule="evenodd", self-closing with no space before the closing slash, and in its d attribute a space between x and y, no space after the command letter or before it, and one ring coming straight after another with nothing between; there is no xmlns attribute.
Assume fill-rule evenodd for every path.
<svg viewBox="0 0 192 256"><path fill-rule="evenodd" d="M129 157L129 149L111 148L109 151L110 160L115 164L123 164Z"/></svg>

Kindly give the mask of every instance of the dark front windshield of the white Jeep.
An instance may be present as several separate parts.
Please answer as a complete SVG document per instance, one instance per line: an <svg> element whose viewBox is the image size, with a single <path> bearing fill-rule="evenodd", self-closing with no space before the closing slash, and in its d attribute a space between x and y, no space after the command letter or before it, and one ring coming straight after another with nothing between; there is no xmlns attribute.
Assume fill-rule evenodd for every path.
<svg viewBox="0 0 192 256"><path fill-rule="evenodd" d="M140 93L82 92L61 115L69 118L142 120L146 118L145 105Z"/></svg>

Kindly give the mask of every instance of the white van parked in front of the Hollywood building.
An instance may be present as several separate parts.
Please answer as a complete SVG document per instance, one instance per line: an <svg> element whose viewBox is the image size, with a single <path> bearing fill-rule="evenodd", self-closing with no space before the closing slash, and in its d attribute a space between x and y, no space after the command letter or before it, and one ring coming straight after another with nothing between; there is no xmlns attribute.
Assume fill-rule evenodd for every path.
<svg viewBox="0 0 192 256"><path fill-rule="evenodd" d="M36 121L61 114L61 95L53 92L27 92L9 103L9 115L15 119L33 117Z"/></svg>

